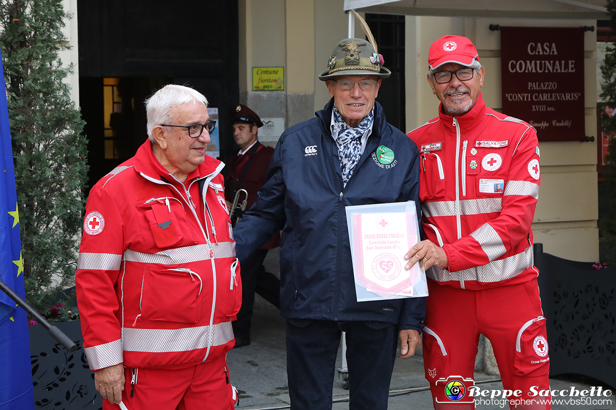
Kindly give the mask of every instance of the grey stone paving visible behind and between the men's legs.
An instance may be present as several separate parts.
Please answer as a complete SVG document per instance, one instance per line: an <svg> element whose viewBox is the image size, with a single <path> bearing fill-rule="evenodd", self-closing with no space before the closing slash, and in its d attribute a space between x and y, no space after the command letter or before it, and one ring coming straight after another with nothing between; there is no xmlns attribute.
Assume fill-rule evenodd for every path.
<svg viewBox="0 0 616 410"><path fill-rule="evenodd" d="M285 351L285 320L277 310L256 309L253 316L253 330L251 332L251 345L233 349L227 354L231 383L240 392L239 408L246 410L275 410L290 408L289 391L286 383L286 351ZM424 378L423 358L419 355L407 360L397 359L392 376L389 409L431 409L432 398ZM341 364L341 352L338 352L338 363ZM475 373L475 380L482 389L502 389L503 385L498 376ZM495 380L495 381L490 381ZM487 381L487 382L486 382ZM569 375L552 377L550 385L553 389L570 389L572 386L578 390L590 389L590 385L598 386L596 380ZM415 387L415 391L408 392L408 388ZM610 389L604 385L605 389ZM398 391L397 391L398 390ZM400 391L402 390L402 391ZM612 389L613 390L613 389ZM402 394L400 394L402 393ZM397 394L397 395L396 395ZM348 390L342 388L341 380L334 379L333 409L349 409ZM580 399L580 398L574 398ZM553 404L553 409L564 410L616 410L616 398L602 397L611 403L585 404ZM478 410L502 409L503 403L478 404Z"/></svg>

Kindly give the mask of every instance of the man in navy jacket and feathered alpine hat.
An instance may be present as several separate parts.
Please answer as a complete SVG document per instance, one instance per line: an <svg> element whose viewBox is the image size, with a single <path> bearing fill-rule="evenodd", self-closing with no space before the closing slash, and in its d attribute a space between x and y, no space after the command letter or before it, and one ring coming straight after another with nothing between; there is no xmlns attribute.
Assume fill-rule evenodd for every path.
<svg viewBox="0 0 616 410"><path fill-rule="evenodd" d="M282 134L267 182L234 230L240 264L282 230L280 310L294 410L331 409L341 331L353 410L386 409L396 335L400 357L419 344L425 298L357 302L345 213L350 205L415 201L421 215L417 147L375 102L390 74L370 42L338 42L319 76L332 99ZM394 159L378 155L389 151Z"/></svg>

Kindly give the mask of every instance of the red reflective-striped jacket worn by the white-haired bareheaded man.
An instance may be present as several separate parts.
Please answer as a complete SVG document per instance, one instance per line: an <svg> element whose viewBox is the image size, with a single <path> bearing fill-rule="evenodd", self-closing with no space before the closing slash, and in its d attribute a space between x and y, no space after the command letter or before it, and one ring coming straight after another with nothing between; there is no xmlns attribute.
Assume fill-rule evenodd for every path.
<svg viewBox="0 0 616 410"><path fill-rule="evenodd" d="M239 267L224 164L205 157L180 183L149 141L92 188L76 290L90 368L162 368L233 347Z"/></svg>

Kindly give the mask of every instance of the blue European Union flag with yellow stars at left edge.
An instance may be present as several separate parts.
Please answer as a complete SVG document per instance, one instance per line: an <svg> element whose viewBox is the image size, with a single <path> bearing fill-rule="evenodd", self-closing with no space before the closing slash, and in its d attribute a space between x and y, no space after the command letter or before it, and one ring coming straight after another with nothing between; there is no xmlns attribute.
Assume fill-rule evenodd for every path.
<svg viewBox="0 0 616 410"><path fill-rule="evenodd" d="M0 58L0 72L2 60ZM4 76L0 86L0 279L18 295L23 286L22 241L19 235L15 169L10 145L9 111ZM0 410L34 409L30 340L26 312L0 291Z"/></svg>

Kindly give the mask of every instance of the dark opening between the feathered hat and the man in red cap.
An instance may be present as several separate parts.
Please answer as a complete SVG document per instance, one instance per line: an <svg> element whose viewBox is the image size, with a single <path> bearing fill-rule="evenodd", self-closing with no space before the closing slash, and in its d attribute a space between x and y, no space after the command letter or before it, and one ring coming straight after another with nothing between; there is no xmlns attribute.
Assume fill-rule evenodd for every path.
<svg viewBox="0 0 616 410"><path fill-rule="evenodd" d="M407 113L404 84L404 25L403 15L366 14L379 54L391 76L384 79L376 100L383 106L387 123L406 132Z"/></svg>

